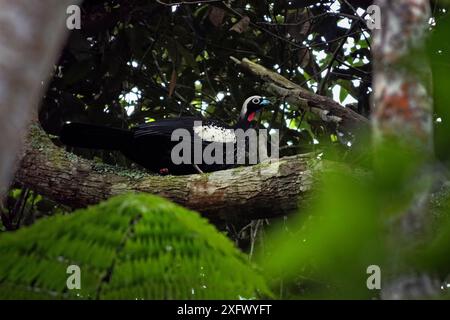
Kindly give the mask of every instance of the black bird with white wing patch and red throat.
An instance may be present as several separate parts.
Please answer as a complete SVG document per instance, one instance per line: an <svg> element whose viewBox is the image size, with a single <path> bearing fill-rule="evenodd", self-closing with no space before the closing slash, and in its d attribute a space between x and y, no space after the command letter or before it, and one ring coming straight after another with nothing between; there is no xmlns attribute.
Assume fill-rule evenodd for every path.
<svg viewBox="0 0 450 320"><path fill-rule="evenodd" d="M225 159L225 150L236 150L234 129L249 129L255 115L268 104L269 101L260 96L247 98L235 126L228 126L218 120L196 117L163 119L130 130L85 123L66 123L62 127L60 140L65 145L73 147L119 150L133 162L160 174L180 175L223 170L235 166L235 161L234 164L230 164L226 163ZM198 121L201 121L201 126L198 125ZM191 138L192 152L188 155L190 161L181 164L174 163L171 156L174 147L180 144L180 140L172 141L172 133L176 129L185 129L183 132L189 133ZM202 155L211 143L221 144L224 150L223 163L195 161L195 139L201 139ZM233 145L230 149L226 149L227 144ZM184 155L184 151L180 154Z"/></svg>

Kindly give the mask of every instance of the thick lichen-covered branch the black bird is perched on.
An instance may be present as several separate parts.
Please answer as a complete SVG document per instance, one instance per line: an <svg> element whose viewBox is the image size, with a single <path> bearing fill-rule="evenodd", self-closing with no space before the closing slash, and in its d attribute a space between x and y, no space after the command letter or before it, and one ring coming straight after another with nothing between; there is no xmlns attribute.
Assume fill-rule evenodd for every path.
<svg viewBox="0 0 450 320"><path fill-rule="evenodd" d="M309 196L323 162L312 154L208 174L159 176L89 161L55 146L33 125L15 181L77 208L113 195L147 192L197 210L211 220L287 215Z"/></svg>

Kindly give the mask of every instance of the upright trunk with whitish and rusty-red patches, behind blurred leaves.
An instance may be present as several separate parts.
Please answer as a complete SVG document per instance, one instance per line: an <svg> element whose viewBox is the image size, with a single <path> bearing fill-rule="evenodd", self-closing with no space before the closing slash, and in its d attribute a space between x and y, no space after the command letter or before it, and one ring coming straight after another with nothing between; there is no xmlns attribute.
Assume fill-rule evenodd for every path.
<svg viewBox="0 0 450 320"><path fill-rule="evenodd" d="M374 32L373 134L376 147L385 141L401 142L424 158L414 171L420 190L415 190L405 212L390 226L389 240L397 246L417 244L426 231L432 186L433 156L431 74L425 55L425 35L431 16L428 0L378 0L381 29ZM403 149L402 149L403 150ZM414 159L413 159L414 160ZM407 164L405 164L407 165ZM399 245L399 244L402 245ZM393 259L395 260L395 259ZM401 269L401 262L390 266ZM385 299L436 296L439 284L428 275L397 274L382 289Z"/></svg>

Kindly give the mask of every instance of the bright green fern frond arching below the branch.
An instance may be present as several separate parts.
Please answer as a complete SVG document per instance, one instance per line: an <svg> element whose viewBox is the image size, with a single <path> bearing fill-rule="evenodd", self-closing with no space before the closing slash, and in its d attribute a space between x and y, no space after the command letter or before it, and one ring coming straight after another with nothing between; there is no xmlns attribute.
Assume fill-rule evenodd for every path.
<svg viewBox="0 0 450 320"><path fill-rule="evenodd" d="M69 265L81 289L69 290ZM206 219L160 197L112 198L0 235L0 299L239 299L264 279Z"/></svg>

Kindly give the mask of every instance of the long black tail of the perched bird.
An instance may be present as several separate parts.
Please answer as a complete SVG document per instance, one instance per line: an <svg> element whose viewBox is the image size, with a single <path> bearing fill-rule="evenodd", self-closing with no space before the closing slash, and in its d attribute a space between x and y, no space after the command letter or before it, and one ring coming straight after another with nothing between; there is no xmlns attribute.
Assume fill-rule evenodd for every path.
<svg viewBox="0 0 450 320"><path fill-rule="evenodd" d="M121 150L132 138L129 130L86 123L66 123L60 133L62 143L72 147Z"/></svg>

